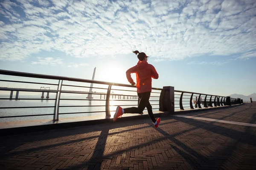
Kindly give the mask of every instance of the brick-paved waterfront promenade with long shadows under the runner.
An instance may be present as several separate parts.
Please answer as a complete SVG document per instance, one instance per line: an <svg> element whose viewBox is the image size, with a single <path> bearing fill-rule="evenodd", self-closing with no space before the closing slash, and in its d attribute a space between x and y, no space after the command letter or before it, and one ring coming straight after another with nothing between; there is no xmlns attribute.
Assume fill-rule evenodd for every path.
<svg viewBox="0 0 256 170"><path fill-rule="evenodd" d="M2 136L0 169L248 169L256 167L256 103Z"/></svg>

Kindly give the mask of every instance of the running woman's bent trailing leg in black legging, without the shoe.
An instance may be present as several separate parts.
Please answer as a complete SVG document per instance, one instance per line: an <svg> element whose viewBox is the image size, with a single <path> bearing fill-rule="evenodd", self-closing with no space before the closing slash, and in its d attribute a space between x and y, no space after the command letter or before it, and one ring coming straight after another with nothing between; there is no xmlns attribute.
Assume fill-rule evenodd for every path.
<svg viewBox="0 0 256 170"><path fill-rule="evenodd" d="M142 113L145 107L148 105L148 100L150 97L150 92L138 93L138 97L140 98L140 102L138 107L124 108L124 113Z"/></svg>

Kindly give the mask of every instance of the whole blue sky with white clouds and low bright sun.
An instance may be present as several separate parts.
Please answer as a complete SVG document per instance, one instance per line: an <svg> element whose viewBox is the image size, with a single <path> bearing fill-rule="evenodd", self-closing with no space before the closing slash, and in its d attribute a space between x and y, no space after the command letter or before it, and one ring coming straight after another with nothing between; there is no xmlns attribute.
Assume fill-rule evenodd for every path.
<svg viewBox="0 0 256 170"><path fill-rule="evenodd" d="M129 84L135 50L155 88L255 93L256 1L0 1L2 70L91 79L96 67L95 80Z"/></svg>

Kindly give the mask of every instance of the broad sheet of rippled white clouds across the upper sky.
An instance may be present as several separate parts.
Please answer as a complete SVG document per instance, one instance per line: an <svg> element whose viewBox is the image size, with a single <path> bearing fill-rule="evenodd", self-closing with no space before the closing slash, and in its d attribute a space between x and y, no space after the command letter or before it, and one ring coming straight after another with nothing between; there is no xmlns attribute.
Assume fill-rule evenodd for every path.
<svg viewBox="0 0 256 170"><path fill-rule="evenodd" d="M0 60L51 50L109 57L135 49L154 61L255 57L255 0L6 0L0 6Z"/></svg>

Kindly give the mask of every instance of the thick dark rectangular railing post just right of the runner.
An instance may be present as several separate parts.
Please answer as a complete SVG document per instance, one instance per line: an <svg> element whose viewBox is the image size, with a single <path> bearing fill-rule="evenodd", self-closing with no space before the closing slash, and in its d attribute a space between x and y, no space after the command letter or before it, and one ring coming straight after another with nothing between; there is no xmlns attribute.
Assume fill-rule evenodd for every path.
<svg viewBox="0 0 256 170"><path fill-rule="evenodd" d="M174 113L174 87L164 86L160 94L159 111Z"/></svg>

